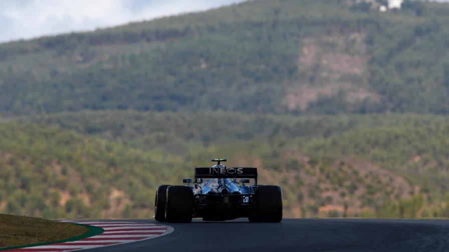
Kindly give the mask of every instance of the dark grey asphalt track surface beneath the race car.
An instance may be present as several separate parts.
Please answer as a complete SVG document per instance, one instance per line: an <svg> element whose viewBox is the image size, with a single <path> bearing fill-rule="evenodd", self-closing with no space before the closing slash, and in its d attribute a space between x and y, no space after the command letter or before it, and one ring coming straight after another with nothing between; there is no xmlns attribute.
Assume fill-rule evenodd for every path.
<svg viewBox="0 0 449 252"><path fill-rule="evenodd" d="M149 222L149 220L127 220ZM164 223L171 234L84 251L449 251L449 220L246 219Z"/></svg>

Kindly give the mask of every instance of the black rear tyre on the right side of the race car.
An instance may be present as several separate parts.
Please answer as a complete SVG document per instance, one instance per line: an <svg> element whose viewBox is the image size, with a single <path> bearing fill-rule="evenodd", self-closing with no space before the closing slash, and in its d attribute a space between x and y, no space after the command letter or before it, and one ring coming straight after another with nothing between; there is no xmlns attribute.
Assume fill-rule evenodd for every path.
<svg viewBox="0 0 449 252"><path fill-rule="evenodd" d="M250 221L280 222L282 220L282 190L277 185L260 185L256 190L256 212Z"/></svg>

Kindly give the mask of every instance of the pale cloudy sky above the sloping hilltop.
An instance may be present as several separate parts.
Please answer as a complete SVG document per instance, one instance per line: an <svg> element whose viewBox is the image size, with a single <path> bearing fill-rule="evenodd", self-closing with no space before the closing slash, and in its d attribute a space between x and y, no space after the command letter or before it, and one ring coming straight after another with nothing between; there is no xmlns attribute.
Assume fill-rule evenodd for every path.
<svg viewBox="0 0 449 252"><path fill-rule="evenodd" d="M243 0L0 0L0 42L92 30L241 1Z"/></svg>

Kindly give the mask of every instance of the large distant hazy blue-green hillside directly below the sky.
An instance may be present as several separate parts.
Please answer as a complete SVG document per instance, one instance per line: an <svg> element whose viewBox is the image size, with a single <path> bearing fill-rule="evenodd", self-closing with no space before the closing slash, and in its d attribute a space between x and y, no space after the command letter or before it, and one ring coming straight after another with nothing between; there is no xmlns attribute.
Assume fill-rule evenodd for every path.
<svg viewBox="0 0 449 252"><path fill-rule="evenodd" d="M446 113L449 4L256 0L0 44L0 113Z"/></svg>

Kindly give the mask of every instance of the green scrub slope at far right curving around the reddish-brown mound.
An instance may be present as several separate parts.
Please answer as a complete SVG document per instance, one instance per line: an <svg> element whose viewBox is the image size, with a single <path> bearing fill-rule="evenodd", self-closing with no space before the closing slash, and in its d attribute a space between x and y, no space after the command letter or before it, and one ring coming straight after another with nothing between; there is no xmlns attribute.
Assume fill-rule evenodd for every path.
<svg viewBox="0 0 449 252"><path fill-rule="evenodd" d="M408 212L407 216L446 217L449 210L445 203L449 199L448 130L448 123L354 130L327 139L314 139L305 144L304 151L317 160L357 156L379 164L419 185L419 190L411 193L417 196L402 207L402 211ZM401 203L404 202L390 209L380 209L378 214L403 216ZM431 205L436 208L432 209Z"/></svg>

